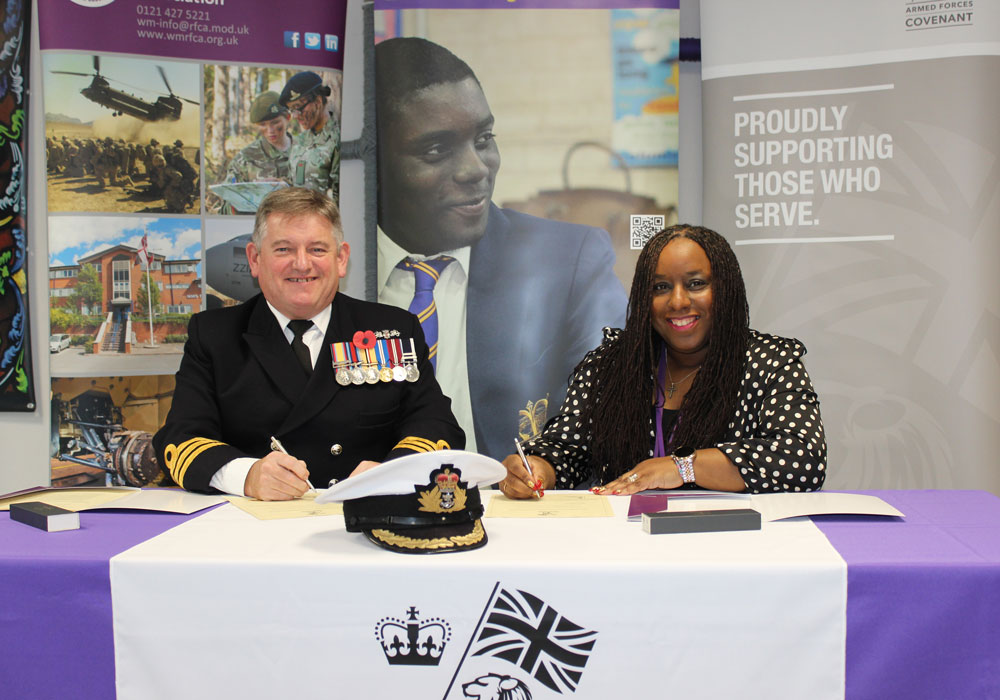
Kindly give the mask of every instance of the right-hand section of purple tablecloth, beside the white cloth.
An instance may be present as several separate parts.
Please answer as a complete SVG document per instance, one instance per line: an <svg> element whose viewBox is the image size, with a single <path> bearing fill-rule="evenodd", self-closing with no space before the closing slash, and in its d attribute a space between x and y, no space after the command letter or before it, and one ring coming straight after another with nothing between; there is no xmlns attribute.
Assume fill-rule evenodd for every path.
<svg viewBox="0 0 1000 700"><path fill-rule="evenodd" d="M906 518L813 518L847 562L848 700L1000 698L1000 499L866 491Z"/></svg>

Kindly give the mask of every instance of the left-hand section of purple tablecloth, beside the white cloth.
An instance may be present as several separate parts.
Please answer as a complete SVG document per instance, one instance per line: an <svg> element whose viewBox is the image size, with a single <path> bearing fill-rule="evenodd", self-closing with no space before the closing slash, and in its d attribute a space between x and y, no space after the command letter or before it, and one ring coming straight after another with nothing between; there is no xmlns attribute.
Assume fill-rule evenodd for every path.
<svg viewBox="0 0 1000 700"><path fill-rule="evenodd" d="M0 697L114 698L108 561L192 517L84 512L44 532L0 513Z"/></svg>

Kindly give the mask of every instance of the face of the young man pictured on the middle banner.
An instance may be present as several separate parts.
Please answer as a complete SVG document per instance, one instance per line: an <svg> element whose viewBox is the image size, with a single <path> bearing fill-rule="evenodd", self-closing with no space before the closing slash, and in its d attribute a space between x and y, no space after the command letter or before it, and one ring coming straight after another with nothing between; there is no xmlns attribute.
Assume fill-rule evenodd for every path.
<svg viewBox="0 0 1000 700"><path fill-rule="evenodd" d="M379 124L379 225L411 253L475 243L486 231L500 151L473 78L418 90Z"/></svg>

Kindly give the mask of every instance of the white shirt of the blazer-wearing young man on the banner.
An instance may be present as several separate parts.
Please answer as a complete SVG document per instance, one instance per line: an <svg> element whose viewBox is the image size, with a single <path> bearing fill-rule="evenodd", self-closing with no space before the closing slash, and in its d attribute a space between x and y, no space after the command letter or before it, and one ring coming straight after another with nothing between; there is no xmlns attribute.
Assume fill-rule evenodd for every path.
<svg viewBox="0 0 1000 700"><path fill-rule="evenodd" d="M378 300L408 309L413 301L414 275L396 267L405 258L428 260L439 255L455 258L441 272L434 285L434 303L438 314L437 380L441 391L451 399L451 410L465 431L465 449L476 451L476 431L472 423L472 398L469 394L469 362L465 346L466 293L469 289L469 258L466 246L435 255L407 253L382 229L378 231Z"/></svg>

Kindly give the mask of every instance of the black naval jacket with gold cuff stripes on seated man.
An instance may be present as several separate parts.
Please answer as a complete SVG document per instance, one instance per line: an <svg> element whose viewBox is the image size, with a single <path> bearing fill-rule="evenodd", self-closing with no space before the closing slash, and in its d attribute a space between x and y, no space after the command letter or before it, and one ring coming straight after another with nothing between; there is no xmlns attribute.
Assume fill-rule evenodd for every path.
<svg viewBox="0 0 1000 700"><path fill-rule="evenodd" d="M330 344L368 330L399 331L406 351L414 339L416 382L336 382ZM209 482L220 467L237 457L264 457L272 435L306 463L319 488L346 478L362 460L465 447L416 316L340 293L311 377L260 294L192 316L176 377L153 445L164 471L189 491L214 491Z"/></svg>

